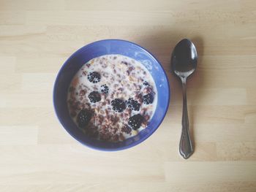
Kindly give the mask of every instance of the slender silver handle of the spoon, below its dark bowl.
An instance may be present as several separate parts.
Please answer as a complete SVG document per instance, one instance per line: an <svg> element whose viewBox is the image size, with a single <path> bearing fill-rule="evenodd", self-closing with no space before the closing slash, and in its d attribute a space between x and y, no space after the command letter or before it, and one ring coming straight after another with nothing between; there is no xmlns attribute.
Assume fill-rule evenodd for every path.
<svg viewBox="0 0 256 192"><path fill-rule="evenodd" d="M187 159L192 155L194 149L189 134L189 118L187 115L187 86L186 78L181 78L182 82L182 93L183 93L183 111L182 111L182 130L181 130L181 141L179 143L179 153L183 158Z"/></svg>

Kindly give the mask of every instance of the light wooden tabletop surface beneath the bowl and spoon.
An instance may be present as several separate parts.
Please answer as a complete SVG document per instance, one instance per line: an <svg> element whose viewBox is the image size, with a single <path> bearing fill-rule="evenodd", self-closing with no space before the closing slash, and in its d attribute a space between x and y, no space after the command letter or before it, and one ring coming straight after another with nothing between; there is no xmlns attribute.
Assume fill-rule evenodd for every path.
<svg viewBox="0 0 256 192"><path fill-rule="evenodd" d="M199 54L188 82L195 153L178 154L181 85L170 53ZM53 112L56 73L79 47L127 39L167 72L170 107L145 142L80 145ZM256 1L0 1L0 191L256 191Z"/></svg>

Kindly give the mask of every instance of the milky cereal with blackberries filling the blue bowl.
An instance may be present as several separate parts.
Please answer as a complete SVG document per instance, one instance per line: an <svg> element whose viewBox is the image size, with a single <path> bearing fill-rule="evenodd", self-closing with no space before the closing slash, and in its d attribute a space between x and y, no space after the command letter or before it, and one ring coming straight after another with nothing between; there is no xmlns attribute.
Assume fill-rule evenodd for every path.
<svg viewBox="0 0 256 192"><path fill-rule="evenodd" d="M102 55L75 74L67 103L72 119L85 134L118 142L146 128L157 105L157 89L138 61Z"/></svg>

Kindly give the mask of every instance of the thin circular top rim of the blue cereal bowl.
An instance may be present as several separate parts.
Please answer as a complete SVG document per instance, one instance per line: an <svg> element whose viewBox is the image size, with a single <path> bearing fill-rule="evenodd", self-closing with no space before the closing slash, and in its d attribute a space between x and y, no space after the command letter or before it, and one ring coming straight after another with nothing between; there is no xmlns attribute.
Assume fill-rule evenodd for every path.
<svg viewBox="0 0 256 192"><path fill-rule="evenodd" d="M56 96L56 84L59 80L59 76L62 72L62 70L64 69L65 66L67 66L67 64L69 64L69 60L71 60L71 58L73 58L76 54L80 53L83 49L85 49L86 47L89 47L91 45L93 45L94 43L99 43L99 42L109 42L109 41L118 41L118 42L127 42L130 43L132 45L138 46L140 47L141 50L145 51L146 53L148 53L148 55L150 55L155 61L157 61L157 63L159 64L159 66L162 68L162 71L165 74L165 78L167 80L167 105L165 107L165 112L164 115L162 116L162 118L159 120L159 122L157 123L157 126L154 127L154 129L151 131L151 133L147 134L146 137L143 137L143 139L139 139L138 141L132 142L130 145L126 145L123 147L116 147L116 148L111 148L111 147L96 147L94 145L90 145L89 143L83 142L80 139L78 139L77 137L74 136L74 134L72 134L67 128L65 128L64 123L62 122L61 118L58 115L58 112L56 111L56 103L55 103L55 96ZM146 50L146 48L134 43L134 42L129 42L127 40L124 39L102 39L102 40L98 40L95 42L91 42L87 45L84 45L83 47L80 47L78 50L75 51L75 53L72 53L72 55L69 56L69 58L67 58L67 60L64 62L64 64L62 64L61 68L59 69L59 72L56 75L56 79L53 85L53 108L54 108L54 112L55 115L57 116L57 118L59 119L59 123L61 123L61 126L67 131L67 133L69 135L71 135L75 140L77 140L78 142L80 142L82 145L85 145L86 147L89 147L93 150L100 150L100 151L118 151L118 150L125 150L125 149L129 149L131 147L135 147L136 145L140 144L141 142L144 142L146 139L148 139L148 137L150 137L152 134L154 134L155 131L157 131L157 128L159 128L159 126L161 125L162 121L165 119L165 116L167 114L167 110L169 108L169 104L170 104L170 99L171 99L171 95L170 95L170 82L168 80L167 74L165 72L165 69L162 67L162 64L157 60L157 58L148 50Z"/></svg>

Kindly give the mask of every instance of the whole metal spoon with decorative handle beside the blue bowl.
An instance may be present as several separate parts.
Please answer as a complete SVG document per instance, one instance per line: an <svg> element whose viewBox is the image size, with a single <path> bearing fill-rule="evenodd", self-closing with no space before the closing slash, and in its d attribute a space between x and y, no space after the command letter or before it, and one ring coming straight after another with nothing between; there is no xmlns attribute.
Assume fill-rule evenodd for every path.
<svg viewBox="0 0 256 192"><path fill-rule="evenodd" d="M179 153L187 159L192 155L194 147L189 134L189 118L187 115L187 77L195 72L197 67L197 50L189 39L182 39L173 50L171 58L172 70L182 83L183 92L183 112L182 112L182 131L179 144Z"/></svg>

